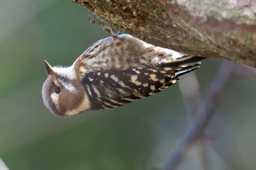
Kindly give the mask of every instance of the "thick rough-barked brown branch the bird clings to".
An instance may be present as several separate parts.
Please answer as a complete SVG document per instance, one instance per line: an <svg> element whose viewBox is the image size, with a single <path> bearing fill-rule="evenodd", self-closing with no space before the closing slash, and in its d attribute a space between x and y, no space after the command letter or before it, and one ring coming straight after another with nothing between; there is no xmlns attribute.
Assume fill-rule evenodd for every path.
<svg viewBox="0 0 256 170"><path fill-rule="evenodd" d="M256 67L254 0L73 0L113 28L160 47Z"/></svg>

